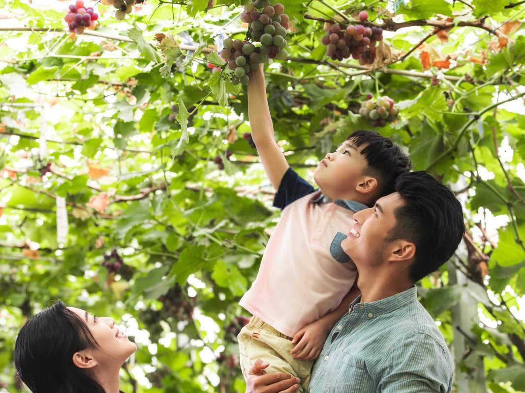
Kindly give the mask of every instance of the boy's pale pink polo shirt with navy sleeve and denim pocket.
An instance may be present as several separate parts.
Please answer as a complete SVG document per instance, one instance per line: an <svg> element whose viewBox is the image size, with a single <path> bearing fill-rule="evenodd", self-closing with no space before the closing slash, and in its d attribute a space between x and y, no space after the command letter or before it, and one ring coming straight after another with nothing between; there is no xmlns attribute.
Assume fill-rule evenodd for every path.
<svg viewBox="0 0 525 393"><path fill-rule="evenodd" d="M296 185L304 194L311 187L304 183L289 169L278 194L293 193ZM352 201L323 202L322 198L317 191L285 205L257 278L239 302L290 337L337 308L356 277L355 265L342 252L340 242L353 226L354 211L367 206Z"/></svg>

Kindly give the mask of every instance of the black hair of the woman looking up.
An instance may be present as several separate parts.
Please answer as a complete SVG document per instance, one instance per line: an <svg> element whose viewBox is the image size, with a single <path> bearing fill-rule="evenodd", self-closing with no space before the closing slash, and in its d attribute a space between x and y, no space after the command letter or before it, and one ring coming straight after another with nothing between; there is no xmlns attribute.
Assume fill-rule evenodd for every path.
<svg viewBox="0 0 525 393"><path fill-rule="evenodd" d="M15 343L15 367L33 393L104 393L73 354L98 348L95 337L77 314L58 300L31 317Z"/></svg>

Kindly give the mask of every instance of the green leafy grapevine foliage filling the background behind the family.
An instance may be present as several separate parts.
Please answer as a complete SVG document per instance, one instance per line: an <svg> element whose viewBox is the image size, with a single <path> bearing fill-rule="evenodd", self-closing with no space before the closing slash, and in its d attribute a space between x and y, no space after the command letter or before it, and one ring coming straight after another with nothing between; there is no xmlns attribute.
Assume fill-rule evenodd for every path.
<svg viewBox="0 0 525 393"><path fill-rule="evenodd" d="M279 214L270 208L256 151L242 138L249 132L246 91L206 64L221 62L206 48L244 37L239 1L146 3L122 22L99 4L99 36L70 37L60 7L0 0L0 13L33 28L0 32L0 390L20 388L12 350L25 315L62 299L136 333L139 350L122 370L124 391L244 391L237 301ZM523 107L525 36L519 23L514 31L504 24L519 21L525 5L281 3L295 18L290 60L267 67L266 78L276 138L292 167L311 179L317 160L352 130L372 128L356 115L365 95L392 97L400 115L381 134L464 205L465 243L418 288L455 356L455 391L525 391L517 300L525 290L525 184L518 177L525 171L525 115L494 104ZM396 22L450 17L459 26L448 41L430 35L426 49L386 72L327 62L322 21L314 18L363 7L378 24L395 12ZM385 33L385 42L394 53L408 52L433 31L428 20ZM490 30L509 32L508 46L491 46L498 39ZM161 50L157 33L180 47L168 40ZM450 69L430 65L422 75L421 50L448 56ZM180 107L176 122L168 119L173 104ZM511 158L498 156L501 146L513 150ZM213 162L217 155L224 171ZM106 176L94 179L97 168ZM87 206L103 201L102 192L107 209ZM69 222L61 243L58 196ZM491 215L507 217L497 234ZM113 249L125 264L117 276L101 265Z"/></svg>

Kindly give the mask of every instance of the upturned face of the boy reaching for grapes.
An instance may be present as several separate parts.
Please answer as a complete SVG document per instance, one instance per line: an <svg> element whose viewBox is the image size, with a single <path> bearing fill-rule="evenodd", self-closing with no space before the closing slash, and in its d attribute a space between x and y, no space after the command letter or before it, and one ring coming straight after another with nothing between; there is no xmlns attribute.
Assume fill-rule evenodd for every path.
<svg viewBox="0 0 525 393"><path fill-rule="evenodd" d="M351 140L344 141L319 162L314 179L322 193L331 199L352 199L368 167L366 159Z"/></svg>

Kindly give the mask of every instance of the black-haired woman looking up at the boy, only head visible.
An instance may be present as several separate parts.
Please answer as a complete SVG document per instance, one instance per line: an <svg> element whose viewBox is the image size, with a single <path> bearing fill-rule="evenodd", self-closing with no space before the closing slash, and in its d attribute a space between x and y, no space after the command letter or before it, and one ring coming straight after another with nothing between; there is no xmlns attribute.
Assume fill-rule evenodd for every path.
<svg viewBox="0 0 525 393"><path fill-rule="evenodd" d="M135 351L113 319L57 301L18 333L15 367L34 393L118 393L120 367Z"/></svg>

